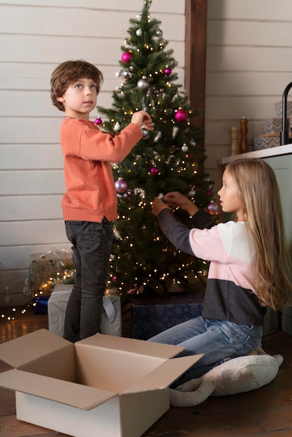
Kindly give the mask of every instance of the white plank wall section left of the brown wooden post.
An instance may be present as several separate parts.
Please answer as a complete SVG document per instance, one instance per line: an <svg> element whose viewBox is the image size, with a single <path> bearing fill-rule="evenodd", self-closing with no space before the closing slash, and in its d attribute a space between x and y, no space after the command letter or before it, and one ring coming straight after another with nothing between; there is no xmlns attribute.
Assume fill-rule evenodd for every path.
<svg viewBox="0 0 292 437"><path fill-rule="evenodd" d="M0 0L0 306L6 285L14 305L26 302L31 253L70 247L60 207L63 113L51 104L50 75L68 59L96 64L105 76L98 104L110 107L129 19L142 8L143 0ZM150 12L183 84L184 0L154 0Z"/></svg>

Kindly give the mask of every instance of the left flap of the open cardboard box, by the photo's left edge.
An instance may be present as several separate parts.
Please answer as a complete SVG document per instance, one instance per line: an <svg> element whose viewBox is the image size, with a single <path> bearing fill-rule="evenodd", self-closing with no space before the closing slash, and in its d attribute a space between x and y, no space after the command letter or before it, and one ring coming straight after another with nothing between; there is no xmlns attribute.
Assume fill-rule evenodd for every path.
<svg viewBox="0 0 292 437"><path fill-rule="evenodd" d="M61 348L73 348L73 343L52 334L48 329L39 329L30 334L0 344L0 360L15 369L38 360Z"/></svg>

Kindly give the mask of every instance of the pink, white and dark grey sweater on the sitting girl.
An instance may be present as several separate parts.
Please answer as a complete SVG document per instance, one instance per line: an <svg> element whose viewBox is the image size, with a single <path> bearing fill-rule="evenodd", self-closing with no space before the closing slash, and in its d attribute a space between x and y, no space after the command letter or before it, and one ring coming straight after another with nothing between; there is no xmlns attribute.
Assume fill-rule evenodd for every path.
<svg viewBox="0 0 292 437"><path fill-rule="evenodd" d="M158 216L159 226L177 249L210 261L203 317L238 325L263 325L265 307L254 292L254 244L247 223L228 221L216 225L199 210L189 229L173 218L169 209Z"/></svg>

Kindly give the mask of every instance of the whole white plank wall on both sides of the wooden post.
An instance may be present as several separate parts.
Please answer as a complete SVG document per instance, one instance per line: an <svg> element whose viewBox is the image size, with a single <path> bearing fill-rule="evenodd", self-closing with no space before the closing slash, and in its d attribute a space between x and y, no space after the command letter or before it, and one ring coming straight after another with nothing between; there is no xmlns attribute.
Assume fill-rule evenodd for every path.
<svg viewBox="0 0 292 437"><path fill-rule="evenodd" d="M142 6L143 0L0 0L0 306L6 285L13 304L24 302L31 253L69 247L60 208L62 114L50 103L50 75L66 59L91 61L105 75L98 103L110 106L120 84L120 46ZM151 13L175 50L183 83L184 0L153 0ZM252 145L263 120L275 117L292 80L291 29L291 0L208 0L205 170L215 189L217 160L231 154L231 126L247 117Z"/></svg>

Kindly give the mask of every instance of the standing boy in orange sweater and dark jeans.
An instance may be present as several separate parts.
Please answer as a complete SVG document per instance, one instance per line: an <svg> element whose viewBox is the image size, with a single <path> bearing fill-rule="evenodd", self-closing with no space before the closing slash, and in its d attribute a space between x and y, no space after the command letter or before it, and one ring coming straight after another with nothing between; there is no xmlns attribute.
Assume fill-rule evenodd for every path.
<svg viewBox="0 0 292 437"><path fill-rule="evenodd" d="M103 295L108 278L112 221L117 194L112 162L122 161L153 130L145 111L133 114L119 135L99 130L89 113L96 108L103 75L86 61L66 61L52 73L53 105L65 112L61 124L66 193L61 206L66 235L72 243L75 283L66 308L64 338L75 342L101 329Z"/></svg>

